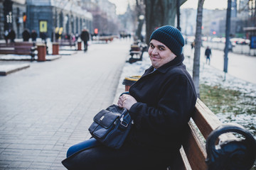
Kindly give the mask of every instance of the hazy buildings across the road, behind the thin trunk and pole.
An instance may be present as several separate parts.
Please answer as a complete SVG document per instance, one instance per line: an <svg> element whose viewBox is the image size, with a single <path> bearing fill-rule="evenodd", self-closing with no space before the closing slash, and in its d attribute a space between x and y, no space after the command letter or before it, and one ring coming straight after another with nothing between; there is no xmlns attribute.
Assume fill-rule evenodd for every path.
<svg viewBox="0 0 256 170"><path fill-rule="evenodd" d="M185 35L196 34L196 13L194 8L181 8L181 31ZM256 27L255 0L231 1L230 35L235 38L250 38L247 27ZM202 35L225 38L226 9L203 9Z"/></svg>

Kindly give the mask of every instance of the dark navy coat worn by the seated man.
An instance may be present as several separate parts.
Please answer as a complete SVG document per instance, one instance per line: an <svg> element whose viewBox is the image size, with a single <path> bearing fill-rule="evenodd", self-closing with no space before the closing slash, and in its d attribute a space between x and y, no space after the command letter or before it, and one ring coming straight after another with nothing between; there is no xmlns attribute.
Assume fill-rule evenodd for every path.
<svg viewBox="0 0 256 170"><path fill-rule="evenodd" d="M129 110L134 119L129 142L164 151L181 147L197 98L183 60L181 55L155 71L149 67L129 89L138 101Z"/></svg>

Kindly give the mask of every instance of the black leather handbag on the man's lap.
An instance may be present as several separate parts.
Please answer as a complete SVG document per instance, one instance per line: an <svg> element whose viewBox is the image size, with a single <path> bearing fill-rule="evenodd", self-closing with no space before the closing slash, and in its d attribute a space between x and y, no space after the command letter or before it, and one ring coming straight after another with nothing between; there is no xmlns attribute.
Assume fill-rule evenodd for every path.
<svg viewBox="0 0 256 170"><path fill-rule="evenodd" d="M132 118L125 108L111 105L93 118L89 132L92 137L107 147L119 149L132 128Z"/></svg>

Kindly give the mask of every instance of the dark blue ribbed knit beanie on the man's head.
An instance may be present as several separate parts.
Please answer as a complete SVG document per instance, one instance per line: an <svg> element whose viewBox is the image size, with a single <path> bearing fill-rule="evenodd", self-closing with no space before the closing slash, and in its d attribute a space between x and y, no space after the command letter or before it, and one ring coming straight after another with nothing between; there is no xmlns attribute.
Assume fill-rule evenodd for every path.
<svg viewBox="0 0 256 170"><path fill-rule="evenodd" d="M152 39L162 42L166 47L169 47L174 55L181 55L182 47L184 46L184 38L181 31L173 26L162 26L154 30L149 41Z"/></svg>

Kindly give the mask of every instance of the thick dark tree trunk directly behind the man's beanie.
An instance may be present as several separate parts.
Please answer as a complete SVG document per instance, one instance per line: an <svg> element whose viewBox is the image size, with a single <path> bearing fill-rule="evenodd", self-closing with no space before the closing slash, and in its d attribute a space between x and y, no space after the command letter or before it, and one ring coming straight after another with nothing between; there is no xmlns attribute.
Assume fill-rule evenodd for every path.
<svg viewBox="0 0 256 170"><path fill-rule="evenodd" d="M144 0L146 5L146 43L151 33L161 26L174 26L177 0ZM180 6L186 0L180 0Z"/></svg>

